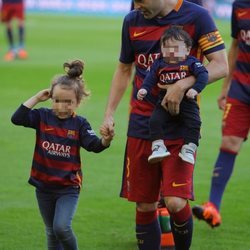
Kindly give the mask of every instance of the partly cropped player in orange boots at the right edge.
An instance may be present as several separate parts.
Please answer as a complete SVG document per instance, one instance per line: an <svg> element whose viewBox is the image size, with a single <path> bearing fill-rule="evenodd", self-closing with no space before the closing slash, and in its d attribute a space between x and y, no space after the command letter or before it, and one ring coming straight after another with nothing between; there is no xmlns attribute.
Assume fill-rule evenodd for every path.
<svg viewBox="0 0 250 250"><path fill-rule="evenodd" d="M250 129L250 1L236 0L231 17L232 43L228 53L229 75L218 98L224 110L222 142L215 162L209 201L192 208L211 227L221 224L220 206L235 159Z"/></svg>

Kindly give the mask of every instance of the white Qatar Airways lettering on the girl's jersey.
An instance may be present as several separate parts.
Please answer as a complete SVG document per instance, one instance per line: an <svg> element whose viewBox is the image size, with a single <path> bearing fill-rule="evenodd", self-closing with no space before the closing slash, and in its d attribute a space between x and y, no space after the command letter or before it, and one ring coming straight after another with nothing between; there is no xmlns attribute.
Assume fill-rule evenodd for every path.
<svg viewBox="0 0 250 250"><path fill-rule="evenodd" d="M62 145L62 144L59 144L59 143L44 141L42 143L42 147L50 155L70 158L70 150L71 150L70 146Z"/></svg>

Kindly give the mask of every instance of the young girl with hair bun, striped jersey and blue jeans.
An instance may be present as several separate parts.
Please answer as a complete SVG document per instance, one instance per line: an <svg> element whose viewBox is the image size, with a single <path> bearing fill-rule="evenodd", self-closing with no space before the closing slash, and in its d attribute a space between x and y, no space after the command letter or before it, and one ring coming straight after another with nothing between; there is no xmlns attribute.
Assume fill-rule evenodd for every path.
<svg viewBox="0 0 250 250"><path fill-rule="evenodd" d="M99 153L109 147L113 137L98 138L88 121L75 113L82 98L88 96L81 78L83 62L63 66L67 74L24 102L11 119L15 125L36 130L29 183L36 187L49 250L78 249L71 223L82 184L80 147ZM52 109L32 109L50 98Z"/></svg>

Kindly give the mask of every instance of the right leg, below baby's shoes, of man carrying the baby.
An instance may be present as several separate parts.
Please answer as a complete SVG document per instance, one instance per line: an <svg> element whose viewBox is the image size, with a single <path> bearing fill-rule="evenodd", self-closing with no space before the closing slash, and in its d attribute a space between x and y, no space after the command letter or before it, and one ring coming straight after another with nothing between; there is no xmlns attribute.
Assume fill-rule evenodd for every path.
<svg viewBox="0 0 250 250"><path fill-rule="evenodd" d="M167 143L171 155L162 162L162 195L170 214L175 249L188 250L193 234L192 211L188 200L193 200L194 165L182 161L178 156L182 140Z"/></svg>

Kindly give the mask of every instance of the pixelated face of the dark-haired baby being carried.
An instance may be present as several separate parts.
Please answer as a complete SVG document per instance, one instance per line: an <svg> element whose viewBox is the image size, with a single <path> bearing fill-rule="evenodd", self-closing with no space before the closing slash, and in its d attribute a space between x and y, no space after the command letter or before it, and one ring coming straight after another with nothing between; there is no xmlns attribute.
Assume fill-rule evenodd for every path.
<svg viewBox="0 0 250 250"><path fill-rule="evenodd" d="M187 48L184 41L169 39L162 44L161 52L165 62L178 63L186 59L189 55L190 49Z"/></svg>

